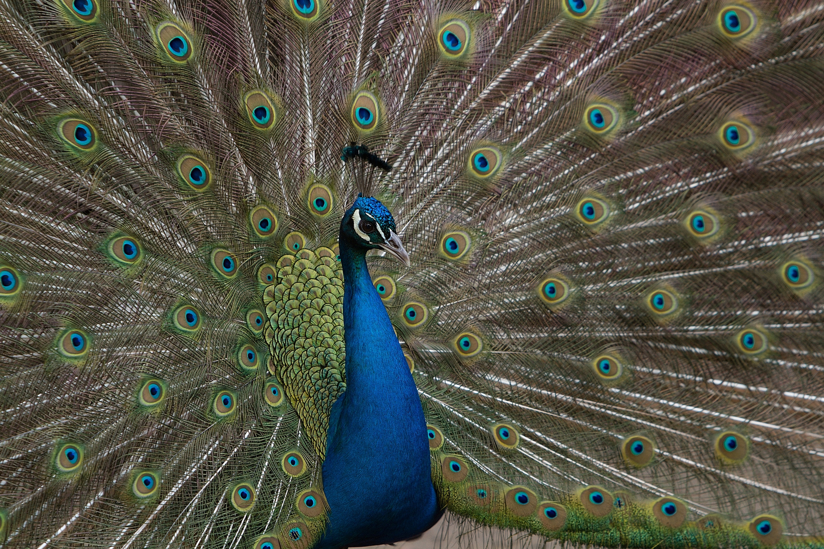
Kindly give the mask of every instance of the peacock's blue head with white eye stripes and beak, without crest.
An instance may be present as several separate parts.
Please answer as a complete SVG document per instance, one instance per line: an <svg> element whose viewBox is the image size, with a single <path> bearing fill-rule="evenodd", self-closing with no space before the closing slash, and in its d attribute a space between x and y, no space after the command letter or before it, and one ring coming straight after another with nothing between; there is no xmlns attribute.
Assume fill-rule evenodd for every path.
<svg viewBox="0 0 824 549"><path fill-rule="evenodd" d="M340 244L350 249L382 249L409 267L410 256L395 230L395 220L386 206L375 198L358 195L340 222Z"/></svg>

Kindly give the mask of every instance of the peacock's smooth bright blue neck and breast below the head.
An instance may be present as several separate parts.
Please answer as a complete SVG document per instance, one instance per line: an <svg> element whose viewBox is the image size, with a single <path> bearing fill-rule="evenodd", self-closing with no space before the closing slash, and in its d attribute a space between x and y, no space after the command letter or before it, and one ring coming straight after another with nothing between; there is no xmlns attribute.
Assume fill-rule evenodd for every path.
<svg viewBox="0 0 824 549"><path fill-rule="evenodd" d="M340 239L346 393L332 408L323 463L330 505L320 549L398 542L440 518L418 390L366 265Z"/></svg>

